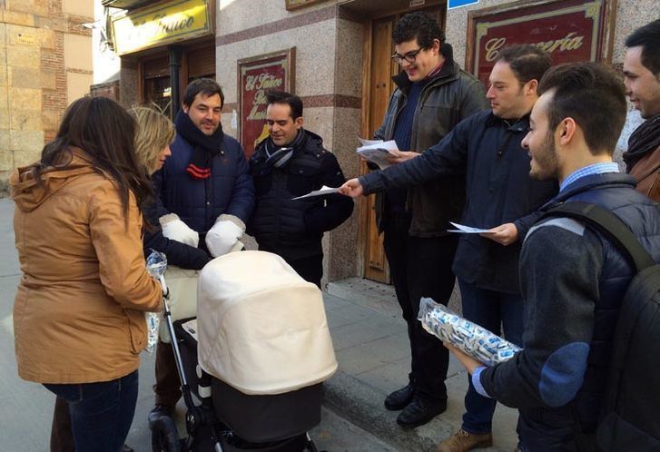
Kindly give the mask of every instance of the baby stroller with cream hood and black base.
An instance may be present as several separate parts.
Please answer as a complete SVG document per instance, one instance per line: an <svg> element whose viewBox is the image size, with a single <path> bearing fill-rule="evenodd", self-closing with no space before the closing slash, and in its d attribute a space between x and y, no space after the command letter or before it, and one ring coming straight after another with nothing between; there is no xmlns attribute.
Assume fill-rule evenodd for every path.
<svg viewBox="0 0 660 452"><path fill-rule="evenodd" d="M233 252L200 271L197 319L163 308L187 435L153 420L154 452L317 452L307 432L337 361L314 284L275 254Z"/></svg>

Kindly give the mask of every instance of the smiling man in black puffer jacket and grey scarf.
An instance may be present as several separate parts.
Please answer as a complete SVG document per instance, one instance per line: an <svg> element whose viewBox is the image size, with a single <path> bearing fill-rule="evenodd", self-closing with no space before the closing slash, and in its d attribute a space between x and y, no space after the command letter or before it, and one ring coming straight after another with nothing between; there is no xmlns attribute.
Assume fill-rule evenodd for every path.
<svg viewBox="0 0 660 452"><path fill-rule="evenodd" d="M292 199L323 185L339 187L344 175L320 136L302 127L300 97L271 91L266 99L269 137L250 159L257 199L248 233L261 251L280 255L304 280L320 287L323 233L350 217L353 201L339 194Z"/></svg>

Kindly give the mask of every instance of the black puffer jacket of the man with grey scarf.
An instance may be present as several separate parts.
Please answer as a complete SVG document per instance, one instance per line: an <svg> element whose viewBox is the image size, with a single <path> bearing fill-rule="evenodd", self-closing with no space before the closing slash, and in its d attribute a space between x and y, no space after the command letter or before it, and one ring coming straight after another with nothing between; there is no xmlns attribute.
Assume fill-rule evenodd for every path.
<svg viewBox="0 0 660 452"><path fill-rule="evenodd" d="M291 159L276 168L266 164L266 146L261 142L252 154L250 169L256 190L256 206L248 225L261 251L271 251L288 260L322 254L320 240L350 217L353 201L339 194L292 200L345 182L335 156L323 149L319 135L301 130L303 136Z"/></svg>

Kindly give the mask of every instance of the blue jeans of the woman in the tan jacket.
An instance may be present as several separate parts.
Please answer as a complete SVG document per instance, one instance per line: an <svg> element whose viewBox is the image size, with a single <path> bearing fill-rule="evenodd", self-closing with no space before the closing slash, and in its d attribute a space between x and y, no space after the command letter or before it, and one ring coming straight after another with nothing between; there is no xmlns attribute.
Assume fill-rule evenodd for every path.
<svg viewBox="0 0 660 452"><path fill-rule="evenodd" d="M101 383L44 387L66 400L77 452L120 452L137 404L137 370Z"/></svg>

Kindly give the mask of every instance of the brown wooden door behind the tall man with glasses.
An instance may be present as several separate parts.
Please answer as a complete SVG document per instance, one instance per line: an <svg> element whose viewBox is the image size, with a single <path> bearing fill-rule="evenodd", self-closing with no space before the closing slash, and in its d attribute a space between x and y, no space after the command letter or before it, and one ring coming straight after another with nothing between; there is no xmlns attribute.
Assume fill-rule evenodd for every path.
<svg viewBox="0 0 660 452"><path fill-rule="evenodd" d="M433 15L444 29L445 4L423 9ZM389 105L389 96L396 88L392 76L399 73L399 64L391 59L394 53L392 28L401 15L409 11L373 19L364 45L363 86L365 100L362 103L362 136L370 139L379 129ZM369 172L365 162L360 162L360 174ZM376 224L375 195L360 200L360 243L363 256L363 276L369 280L389 282L389 267L383 250L382 235Z"/></svg>

